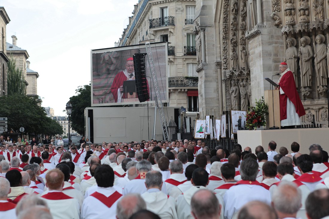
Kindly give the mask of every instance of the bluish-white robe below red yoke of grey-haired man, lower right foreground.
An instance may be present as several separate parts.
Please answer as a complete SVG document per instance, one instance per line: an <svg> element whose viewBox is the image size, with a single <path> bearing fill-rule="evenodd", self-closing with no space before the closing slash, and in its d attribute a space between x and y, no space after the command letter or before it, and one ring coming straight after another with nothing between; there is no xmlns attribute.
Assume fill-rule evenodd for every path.
<svg viewBox="0 0 329 219"><path fill-rule="evenodd" d="M239 184L229 188L224 195L224 217L231 219L234 213L250 201L271 203L269 191L261 185Z"/></svg>

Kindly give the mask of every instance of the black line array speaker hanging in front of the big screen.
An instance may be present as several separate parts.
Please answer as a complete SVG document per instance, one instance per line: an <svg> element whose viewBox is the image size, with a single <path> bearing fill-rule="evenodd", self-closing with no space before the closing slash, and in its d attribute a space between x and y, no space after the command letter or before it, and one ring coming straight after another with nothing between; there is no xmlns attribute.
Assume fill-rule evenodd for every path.
<svg viewBox="0 0 329 219"><path fill-rule="evenodd" d="M150 99L146 79L145 56L146 53L136 53L133 56L136 92L139 102L145 102Z"/></svg>

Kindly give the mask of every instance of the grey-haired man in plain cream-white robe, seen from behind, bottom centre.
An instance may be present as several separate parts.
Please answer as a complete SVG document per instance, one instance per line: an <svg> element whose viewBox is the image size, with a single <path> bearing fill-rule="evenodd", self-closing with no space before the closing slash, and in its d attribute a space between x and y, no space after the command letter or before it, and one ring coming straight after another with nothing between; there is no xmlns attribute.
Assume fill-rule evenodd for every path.
<svg viewBox="0 0 329 219"><path fill-rule="evenodd" d="M177 219L175 199L160 190L162 184L162 174L159 171L153 170L146 173L147 191L141 195L146 202L146 209L158 214L162 219Z"/></svg>

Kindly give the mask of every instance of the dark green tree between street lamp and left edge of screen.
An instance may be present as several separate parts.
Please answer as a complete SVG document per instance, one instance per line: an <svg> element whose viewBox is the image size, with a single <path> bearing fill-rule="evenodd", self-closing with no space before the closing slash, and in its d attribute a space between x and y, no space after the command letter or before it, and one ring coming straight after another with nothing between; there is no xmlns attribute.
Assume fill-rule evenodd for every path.
<svg viewBox="0 0 329 219"><path fill-rule="evenodd" d="M71 127L77 133L84 135L85 108L91 107L90 84L79 86L75 91L77 95L70 97L70 103L72 105L70 116Z"/></svg>

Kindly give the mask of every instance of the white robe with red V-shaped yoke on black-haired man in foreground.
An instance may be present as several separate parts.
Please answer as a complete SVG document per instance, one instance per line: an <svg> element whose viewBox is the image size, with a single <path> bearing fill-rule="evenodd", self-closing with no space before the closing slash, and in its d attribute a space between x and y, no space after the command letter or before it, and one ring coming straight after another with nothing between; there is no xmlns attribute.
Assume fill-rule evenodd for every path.
<svg viewBox="0 0 329 219"><path fill-rule="evenodd" d="M81 209L81 218L82 219L99 219L99 218L109 218L109 219L116 219L116 206L118 201L121 199L122 195L116 191L113 187L97 187L96 192L104 195L104 198L111 199L110 207L106 206L102 201L99 199L88 196L82 204Z"/></svg>

